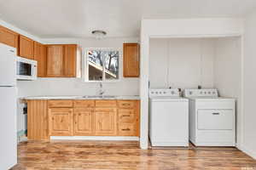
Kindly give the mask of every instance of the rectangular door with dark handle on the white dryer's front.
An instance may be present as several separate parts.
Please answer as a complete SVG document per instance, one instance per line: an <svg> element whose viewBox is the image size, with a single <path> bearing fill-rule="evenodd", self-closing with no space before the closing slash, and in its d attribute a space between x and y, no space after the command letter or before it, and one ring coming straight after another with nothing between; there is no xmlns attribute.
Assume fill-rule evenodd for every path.
<svg viewBox="0 0 256 170"><path fill-rule="evenodd" d="M232 130L234 110L199 110L197 115L199 130Z"/></svg>

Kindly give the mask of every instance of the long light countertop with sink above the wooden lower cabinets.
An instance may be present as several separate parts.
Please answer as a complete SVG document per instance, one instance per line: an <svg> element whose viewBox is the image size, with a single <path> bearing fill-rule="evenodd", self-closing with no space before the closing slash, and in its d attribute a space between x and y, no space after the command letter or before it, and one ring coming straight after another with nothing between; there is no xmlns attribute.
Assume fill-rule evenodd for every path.
<svg viewBox="0 0 256 170"><path fill-rule="evenodd" d="M85 95L85 96L30 96L23 97L20 99L140 99L138 95L105 95L105 96L96 96L96 95Z"/></svg>

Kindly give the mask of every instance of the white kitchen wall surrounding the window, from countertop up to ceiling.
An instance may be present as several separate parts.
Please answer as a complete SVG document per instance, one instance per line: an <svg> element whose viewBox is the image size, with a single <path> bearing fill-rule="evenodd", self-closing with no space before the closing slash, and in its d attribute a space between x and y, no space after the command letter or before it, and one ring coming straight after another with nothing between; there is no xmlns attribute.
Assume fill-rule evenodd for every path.
<svg viewBox="0 0 256 170"><path fill-rule="evenodd" d="M95 38L83 39L42 39L44 43L77 43L82 48L117 48L122 51L124 42L138 42L138 38ZM121 53L122 54L122 53ZM84 62L83 62L84 63ZM120 60L120 80L118 82L105 82L103 88L106 94L112 95L138 95L139 78L124 78L122 76L122 56ZM83 69L84 71L84 69ZM77 78L38 78L32 82L18 82L19 96L37 95L91 95L97 94L99 83L84 82L84 77Z"/></svg>

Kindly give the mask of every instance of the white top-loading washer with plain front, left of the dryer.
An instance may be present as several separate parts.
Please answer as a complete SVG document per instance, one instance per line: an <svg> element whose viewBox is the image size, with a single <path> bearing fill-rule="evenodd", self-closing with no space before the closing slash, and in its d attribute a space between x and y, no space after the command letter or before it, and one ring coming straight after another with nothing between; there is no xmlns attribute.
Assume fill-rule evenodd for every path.
<svg viewBox="0 0 256 170"><path fill-rule="evenodd" d="M189 146L189 99L178 89L150 89L149 101L151 145Z"/></svg>

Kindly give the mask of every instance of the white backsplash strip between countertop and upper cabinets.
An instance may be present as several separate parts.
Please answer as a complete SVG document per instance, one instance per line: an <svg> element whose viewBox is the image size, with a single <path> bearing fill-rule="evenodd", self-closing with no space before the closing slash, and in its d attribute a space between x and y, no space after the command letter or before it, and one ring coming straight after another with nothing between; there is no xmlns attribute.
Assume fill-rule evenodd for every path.
<svg viewBox="0 0 256 170"><path fill-rule="evenodd" d="M106 95L139 95L139 79L103 82ZM38 78L36 81L18 81L19 97L45 95L96 95L99 82L84 82L79 78Z"/></svg>

